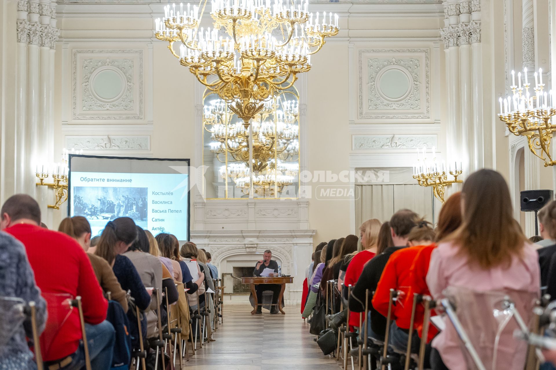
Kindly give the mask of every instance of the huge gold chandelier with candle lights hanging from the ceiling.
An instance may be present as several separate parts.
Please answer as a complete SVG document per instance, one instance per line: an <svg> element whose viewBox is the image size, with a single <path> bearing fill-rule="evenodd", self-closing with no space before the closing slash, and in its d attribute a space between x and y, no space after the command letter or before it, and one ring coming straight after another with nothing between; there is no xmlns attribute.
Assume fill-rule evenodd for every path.
<svg viewBox="0 0 556 370"><path fill-rule="evenodd" d="M309 0L212 0L214 28L199 27L207 0L165 6L155 36L249 127L265 102L311 69L311 55L338 33L338 16L307 12ZM199 11L201 12L199 14ZM219 31L224 31L225 36ZM179 54L173 43L180 41Z"/></svg>

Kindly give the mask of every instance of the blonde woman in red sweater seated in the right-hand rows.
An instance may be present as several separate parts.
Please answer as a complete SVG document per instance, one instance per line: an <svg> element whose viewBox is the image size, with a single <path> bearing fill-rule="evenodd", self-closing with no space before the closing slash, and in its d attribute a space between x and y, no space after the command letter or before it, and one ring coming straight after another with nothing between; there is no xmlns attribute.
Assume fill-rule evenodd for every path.
<svg viewBox="0 0 556 370"><path fill-rule="evenodd" d="M390 231L390 228L388 229L388 231ZM351 258L351 261L347 265L345 275L340 272L338 284L341 284L341 280L343 280L346 286L350 284L355 285L365 264L376 255L379 241L380 221L377 219L366 220L363 224L361 224L359 231L361 233L361 245L363 245L363 250ZM390 235L390 232L388 235ZM359 326L360 315L362 314L351 312L349 324Z"/></svg>

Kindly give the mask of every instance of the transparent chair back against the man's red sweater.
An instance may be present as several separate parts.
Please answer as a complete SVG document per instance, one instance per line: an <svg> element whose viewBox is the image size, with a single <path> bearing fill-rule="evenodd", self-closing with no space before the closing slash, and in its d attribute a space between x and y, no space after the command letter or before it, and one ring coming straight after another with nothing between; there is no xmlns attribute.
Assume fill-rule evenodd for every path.
<svg viewBox="0 0 556 370"><path fill-rule="evenodd" d="M78 314L73 307L71 294L67 293L45 293L42 297L46 300L48 317L44 331L41 334L41 352L43 356L47 354L68 318L73 314ZM75 309L75 310L74 310Z"/></svg>

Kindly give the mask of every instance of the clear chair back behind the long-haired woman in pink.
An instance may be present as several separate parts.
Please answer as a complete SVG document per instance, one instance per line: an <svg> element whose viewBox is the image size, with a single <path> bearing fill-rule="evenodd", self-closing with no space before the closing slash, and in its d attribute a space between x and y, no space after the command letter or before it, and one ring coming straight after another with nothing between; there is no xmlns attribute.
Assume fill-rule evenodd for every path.
<svg viewBox="0 0 556 370"><path fill-rule="evenodd" d="M519 319L529 325L537 294L523 290L504 289L499 291L476 292L468 288L448 287L443 295L454 307L457 323L446 325L446 334L462 339L462 351L468 369L479 369L477 358L485 369L502 370L512 364L525 364L527 343L514 338L516 329L520 330ZM513 310L517 310L517 314ZM465 335L468 341L465 341ZM467 346L464 347L465 343ZM476 357L473 357L474 348ZM514 365L515 366L515 365Z"/></svg>

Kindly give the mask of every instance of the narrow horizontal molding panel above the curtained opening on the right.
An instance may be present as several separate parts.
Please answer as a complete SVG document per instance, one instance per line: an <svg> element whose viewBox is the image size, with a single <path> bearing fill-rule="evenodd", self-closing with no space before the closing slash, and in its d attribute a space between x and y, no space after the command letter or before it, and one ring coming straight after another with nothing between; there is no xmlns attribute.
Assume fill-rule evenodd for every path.
<svg viewBox="0 0 556 370"><path fill-rule="evenodd" d="M436 135L353 135L352 150L438 147Z"/></svg>

